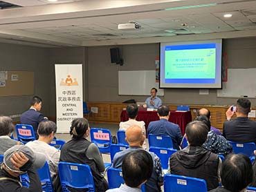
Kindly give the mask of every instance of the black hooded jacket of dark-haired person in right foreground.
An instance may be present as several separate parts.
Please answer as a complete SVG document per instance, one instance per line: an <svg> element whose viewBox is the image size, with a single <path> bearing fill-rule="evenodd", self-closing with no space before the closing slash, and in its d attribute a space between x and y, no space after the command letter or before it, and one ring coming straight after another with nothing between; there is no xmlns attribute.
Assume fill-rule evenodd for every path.
<svg viewBox="0 0 256 192"><path fill-rule="evenodd" d="M170 158L170 172L205 180L208 191L219 186L218 155L201 146L188 146Z"/></svg>

